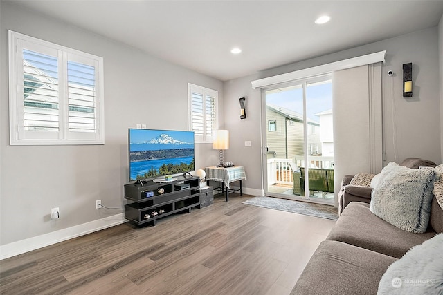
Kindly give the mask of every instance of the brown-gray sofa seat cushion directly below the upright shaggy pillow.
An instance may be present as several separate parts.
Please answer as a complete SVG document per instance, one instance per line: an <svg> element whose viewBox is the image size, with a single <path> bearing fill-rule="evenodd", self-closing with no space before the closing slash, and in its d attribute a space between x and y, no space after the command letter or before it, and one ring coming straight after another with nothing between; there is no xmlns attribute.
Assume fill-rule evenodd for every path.
<svg viewBox="0 0 443 295"><path fill-rule="evenodd" d="M345 242L401 258L411 247L433 236L433 231L415 234L401 230L375 216L370 211L369 204L351 202L341 213L326 240Z"/></svg>

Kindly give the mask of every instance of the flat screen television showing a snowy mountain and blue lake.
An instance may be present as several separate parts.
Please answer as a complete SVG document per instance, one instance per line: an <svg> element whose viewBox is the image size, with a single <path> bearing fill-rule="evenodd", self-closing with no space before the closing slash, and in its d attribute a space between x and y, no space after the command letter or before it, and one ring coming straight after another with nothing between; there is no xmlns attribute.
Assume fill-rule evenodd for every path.
<svg viewBox="0 0 443 295"><path fill-rule="evenodd" d="M193 131L129 129L129 181L195 170Z"/></svg>

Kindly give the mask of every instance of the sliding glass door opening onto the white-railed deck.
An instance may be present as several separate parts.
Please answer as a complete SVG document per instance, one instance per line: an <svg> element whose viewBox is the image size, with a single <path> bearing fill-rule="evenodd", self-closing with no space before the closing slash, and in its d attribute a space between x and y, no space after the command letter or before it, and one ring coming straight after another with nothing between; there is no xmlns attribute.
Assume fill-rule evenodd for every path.
<svg viewBox="0 0 443 295"><path fill-rule="evenodd" d="M266 89L263 106L266 195L332 204L330 76Z"/></svg>

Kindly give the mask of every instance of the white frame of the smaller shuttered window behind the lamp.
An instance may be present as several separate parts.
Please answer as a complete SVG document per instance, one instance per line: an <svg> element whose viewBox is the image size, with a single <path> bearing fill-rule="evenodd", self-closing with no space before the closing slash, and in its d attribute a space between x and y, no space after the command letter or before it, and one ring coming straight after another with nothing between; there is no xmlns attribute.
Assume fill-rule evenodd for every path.
<svg viewBox="0 0 443 295"><path fill-rule="evenodd" d="M196 144L201 144L201 143L213 143L214 141L214 131L216 131L217 129L219 129L219 92L210 88L206 88L203 86L199 86L199 85L195 85L195 84L191 84L188 83L188 130L189 131L194 131L192 129L192 92L195 93L201 93L201 95L203 95L204 97L206 96L213 96L215 97L215 126L214 129L212 130L213 133L210 136L207 136L206 133L204 132L203 135L201 137L199 137L197 135L197 133L195 133L195 143ZM204 104L205 104L205 99L204 100ZM203 113L202 116L204 117L204 126L206 126L206 113Z"/></svg>

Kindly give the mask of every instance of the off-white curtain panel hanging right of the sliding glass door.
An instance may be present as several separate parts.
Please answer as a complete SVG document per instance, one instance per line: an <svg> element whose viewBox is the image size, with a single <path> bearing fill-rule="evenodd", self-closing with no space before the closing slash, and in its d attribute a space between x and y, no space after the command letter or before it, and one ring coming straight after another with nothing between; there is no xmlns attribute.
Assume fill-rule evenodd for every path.
<svg viewBox="0 0 443 295"><path fill-rule="evenodd" d="M381 63L332 73L335 191L344 175L383 168Z"/></svg>

